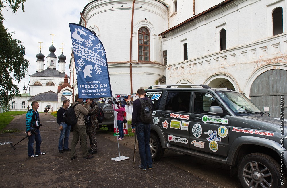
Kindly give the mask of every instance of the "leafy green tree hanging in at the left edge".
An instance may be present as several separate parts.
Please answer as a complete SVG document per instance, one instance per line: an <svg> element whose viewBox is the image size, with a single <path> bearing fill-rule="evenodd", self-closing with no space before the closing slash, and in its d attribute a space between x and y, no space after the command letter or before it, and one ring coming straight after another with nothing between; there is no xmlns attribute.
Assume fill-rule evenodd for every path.
<svg viewBox="0 0 287 188"><path fill-rule="evenodd" d="M13 39L12 34L3 25L3 9L17 12L26 0L0 0L0 105L7 106L20 91L13 84L13 79L20 82L28 73L29 61L24 59L25 47L20 40ZM11 77L13 76L13 78Z"/></svg>

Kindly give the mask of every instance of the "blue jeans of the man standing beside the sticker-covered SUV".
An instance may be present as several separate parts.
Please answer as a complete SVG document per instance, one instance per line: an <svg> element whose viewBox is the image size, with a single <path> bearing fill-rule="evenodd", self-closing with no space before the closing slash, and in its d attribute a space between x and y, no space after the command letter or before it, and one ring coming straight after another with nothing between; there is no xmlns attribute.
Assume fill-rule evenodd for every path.
<svg viewBox="0 0 287 188"><path fill-rule="evenodd" d="M150 124L136 124L137 141L139 143L139 155L141 157L141 166L147 167L152 164L152 154L150 152Z"/></svg>

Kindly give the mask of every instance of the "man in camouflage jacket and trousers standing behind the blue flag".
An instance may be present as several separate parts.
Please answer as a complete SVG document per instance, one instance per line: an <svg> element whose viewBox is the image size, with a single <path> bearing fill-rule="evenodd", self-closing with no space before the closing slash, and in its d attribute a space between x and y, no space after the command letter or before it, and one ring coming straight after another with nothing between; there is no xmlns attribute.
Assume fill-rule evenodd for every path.
<svg viewBox="0 0 287 188"><path fill-rule="evenodd" d="M97 114L99 111L99 106L97 103L94 101L94 99L90 98L87 99L87 101L90 101L90 110L89 110L89 118L88 121L86 122L86 130L87 134L90 137L90 151L89 154L95 154L97 153L98 147L97 147L97 138L96 138L96 131L97 128L99 128L99 123L97 119Z"/></svg>

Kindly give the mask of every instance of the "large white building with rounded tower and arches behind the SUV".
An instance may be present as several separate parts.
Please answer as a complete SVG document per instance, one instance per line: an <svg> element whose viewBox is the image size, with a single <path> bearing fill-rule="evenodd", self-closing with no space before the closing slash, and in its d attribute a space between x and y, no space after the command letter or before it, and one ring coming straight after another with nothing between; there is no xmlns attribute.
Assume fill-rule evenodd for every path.
<svg viewBox="0 0 287 188"><path fill-rule="evenodd" d="M280 98L287 98L286 6L286 0L89 0L79 24L105 47L114 96L157 84L205 84L242 92L279 116Z"/></svg>

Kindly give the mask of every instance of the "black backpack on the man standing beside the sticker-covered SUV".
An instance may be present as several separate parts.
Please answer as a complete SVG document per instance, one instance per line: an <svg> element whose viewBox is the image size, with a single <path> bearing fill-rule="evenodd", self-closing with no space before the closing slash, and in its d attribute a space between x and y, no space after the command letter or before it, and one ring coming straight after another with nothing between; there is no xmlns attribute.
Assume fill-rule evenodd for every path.
<svg viewBox="0 0 287 188"><path fill-rule="evenodd" d="M144 100L139 98L141 102L141 112L140 112L140 120L143 123L151 123L152 122L152 104L150 103L150 98L148 100Z"/></svg>

